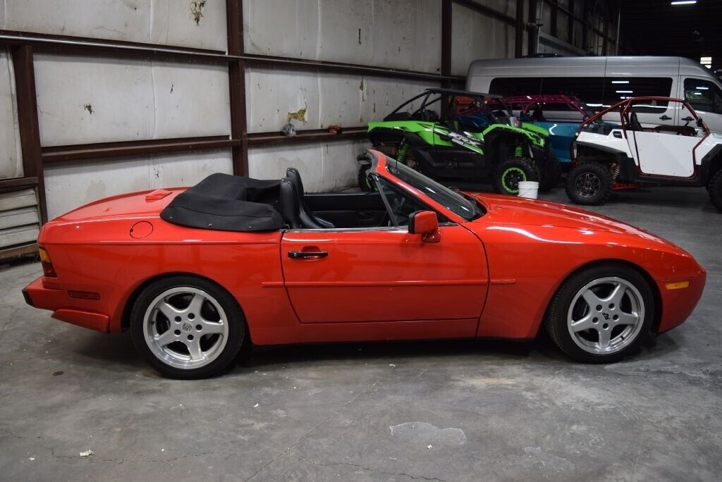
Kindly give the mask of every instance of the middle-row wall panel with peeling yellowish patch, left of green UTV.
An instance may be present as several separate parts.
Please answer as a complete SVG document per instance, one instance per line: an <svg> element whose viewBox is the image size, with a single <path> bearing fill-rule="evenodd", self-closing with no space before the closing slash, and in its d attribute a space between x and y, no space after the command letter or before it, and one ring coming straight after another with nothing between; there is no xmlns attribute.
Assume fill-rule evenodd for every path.
<svg viewBox="0 0 722 482"><path fill-rule="evenodd" d="M385 115L428 87L428 81L386 79L360 75L246 69L248 131L280 131L288 113L306 109L299 129L332 124L362 126Z"/></svg>

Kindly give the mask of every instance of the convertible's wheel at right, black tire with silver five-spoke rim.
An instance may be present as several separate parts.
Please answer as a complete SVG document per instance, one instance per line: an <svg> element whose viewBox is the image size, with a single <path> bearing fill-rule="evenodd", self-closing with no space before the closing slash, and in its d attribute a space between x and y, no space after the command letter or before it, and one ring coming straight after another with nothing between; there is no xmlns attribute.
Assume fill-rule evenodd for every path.
<svg viewBox="0 0 722 482"><path fill-rule="evenodd" d="M609 279L618 281L607 281ZM615 311L614 303L609 304L604 298L616 283L624 289ZM596 292L589 295L591 289L587 286ZM582 293L592 299L593 296L601 298L597 299L599 304L592 306ZM634 352L649 338L654 315L654 296L645 277L625 264L605 263L574 273L562 284L549 304L545 325L554 343L578 362L613 363ZM625 320L634 320L634 316L634 325L622 324ZM590 328L584 329L586 326ZM604 343L606 349L601 348Z"/></svg>

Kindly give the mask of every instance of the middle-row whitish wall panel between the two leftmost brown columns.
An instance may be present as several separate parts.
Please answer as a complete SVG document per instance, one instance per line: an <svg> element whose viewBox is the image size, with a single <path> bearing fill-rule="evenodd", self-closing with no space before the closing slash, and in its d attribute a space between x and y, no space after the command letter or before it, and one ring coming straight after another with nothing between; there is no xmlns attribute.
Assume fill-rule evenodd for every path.
<svg viewBox="0 0 722 482"><path fill-rule="evenodd" d="M35 82L43 146L230 133L225 66L39 54Z"/></svg>

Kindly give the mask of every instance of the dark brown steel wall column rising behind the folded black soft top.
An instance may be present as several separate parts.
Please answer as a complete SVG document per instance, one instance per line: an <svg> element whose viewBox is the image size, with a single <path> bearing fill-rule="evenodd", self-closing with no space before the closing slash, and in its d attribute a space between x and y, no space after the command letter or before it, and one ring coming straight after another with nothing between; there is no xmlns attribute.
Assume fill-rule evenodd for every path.
<svg viewBox="0 0 722 482"><path fill-rule="evenodd" d="M243 0L227 0L228 54L242 56L243 48ZM232 139L240 139L240 146L231 148L233 174L248 175L248 126L245 118L245 61L228 63L230 87L230 133Z"/></svg>

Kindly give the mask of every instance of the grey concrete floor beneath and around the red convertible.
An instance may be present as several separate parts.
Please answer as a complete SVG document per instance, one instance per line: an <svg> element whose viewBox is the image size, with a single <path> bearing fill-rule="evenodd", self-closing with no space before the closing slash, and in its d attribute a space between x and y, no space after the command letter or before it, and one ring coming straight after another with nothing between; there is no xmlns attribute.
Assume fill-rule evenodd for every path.
<svg viewBox="0 0 722 482"><path fill-rule="evenodd" d="M3 271L0 479L718 481L722 214L704 189L595 210L708 270L687 323L607 366L541 336L264 349L213 380L164 380L127 333L26 306L38 264Z"/></svg>

